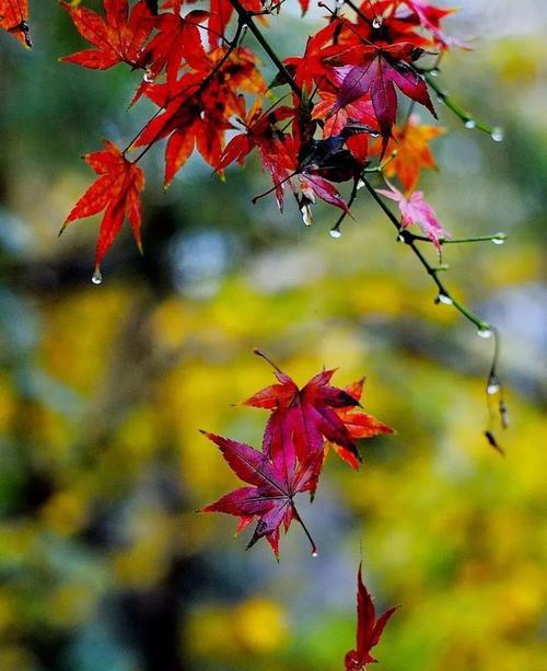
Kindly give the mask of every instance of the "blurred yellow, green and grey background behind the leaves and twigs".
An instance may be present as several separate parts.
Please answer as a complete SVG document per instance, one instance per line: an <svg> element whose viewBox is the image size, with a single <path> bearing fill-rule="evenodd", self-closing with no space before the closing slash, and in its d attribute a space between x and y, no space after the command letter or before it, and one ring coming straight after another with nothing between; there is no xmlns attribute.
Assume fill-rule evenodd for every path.
<svg viewBox="0 0 547 671"><path fill-rule="evenodd" d="M290 4L283 54L316 25ZM31 0L33 51L0 36L2 671L339 671L361 547L379 608L401 605L385 671L547 669L547 7L458 4L452 31L477 48L440 81L505 140L440 108L424 188L455 235L509 235L445 253L446 281L503 334L505 459L482 436L491 340L434 305L364 195L333 240L327 208L305 229L291 204L252 206L256 165L221 183L193 160L163 194L151 151L146 256L126 232L92 286L97 221L57 231L93 178L79 155L150 114L126 112L139 73L59 63L82 42L54 1ZM255 346L301 382L365 374L365 408L398 430L363 446L359 474L331 459L303 498L315 559L296 527L277 565L232 518L194 512L236 483L198 429L259 444L266 416L234 405L271 380Z"/></svg>

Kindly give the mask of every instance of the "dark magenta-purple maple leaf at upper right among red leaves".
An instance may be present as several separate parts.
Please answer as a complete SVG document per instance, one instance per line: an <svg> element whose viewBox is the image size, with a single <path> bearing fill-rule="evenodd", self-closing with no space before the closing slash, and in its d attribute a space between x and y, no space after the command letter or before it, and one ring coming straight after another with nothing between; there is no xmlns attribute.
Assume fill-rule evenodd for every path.
<svg viewBox="0 0 547 671"><path fill-rule="evenodd" d="M384 139L384 150L397 114L395 84L409 99L424 105L437 118L423 78L411 68L416 46L400 43L376 47L360 45L359 65L335 68L340 88L330 115L369 94Z"/></svg>

